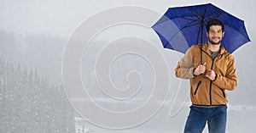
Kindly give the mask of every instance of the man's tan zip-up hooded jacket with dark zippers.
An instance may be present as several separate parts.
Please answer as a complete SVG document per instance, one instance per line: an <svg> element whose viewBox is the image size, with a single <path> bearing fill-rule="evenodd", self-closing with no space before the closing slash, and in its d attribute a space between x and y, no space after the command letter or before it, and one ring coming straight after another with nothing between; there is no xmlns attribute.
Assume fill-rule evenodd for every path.
<svg viewBox="0 0 256 133"><path fill-rule="evenodd" d="M202 63L207 63L207 69L216 74L215 80L209 80L201 75L193 75L194 69L201 64L201 45L189 48L177 64L176 76L190 79L190 98L194 105L225 105L228 103L226 90L236 87L236 66L233 56L221 47L217 57L212 56L207 44L202 45Z"/></svg>

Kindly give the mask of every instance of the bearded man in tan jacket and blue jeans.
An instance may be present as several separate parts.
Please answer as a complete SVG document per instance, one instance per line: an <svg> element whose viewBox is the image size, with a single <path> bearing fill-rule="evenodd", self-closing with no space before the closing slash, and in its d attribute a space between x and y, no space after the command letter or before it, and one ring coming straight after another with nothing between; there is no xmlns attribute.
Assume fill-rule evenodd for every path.
<svg viewBox="0 0 256 133"><path fill-rule="evenodd" d="M201 133L206 123L210 133L224 133L228 103L226 90L236 87L234 58L220 45L224 24L218 19L209 20L207 37L206 44L190 47L175 69L177 77L190 80L192 105L185 133Z"/></svg>

